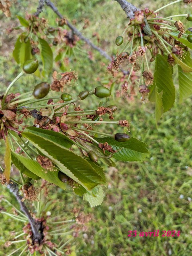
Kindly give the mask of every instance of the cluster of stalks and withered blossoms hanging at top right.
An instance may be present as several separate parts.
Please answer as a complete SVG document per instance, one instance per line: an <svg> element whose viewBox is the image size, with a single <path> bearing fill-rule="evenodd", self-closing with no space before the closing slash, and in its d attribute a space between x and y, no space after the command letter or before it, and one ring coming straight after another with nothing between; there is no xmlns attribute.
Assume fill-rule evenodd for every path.
<svg viewBox="0 0 192 256"><path fill-rule="evenodd" d="M147 101L147 95L150 92L149 85L153 83L154 77L149 69L149 62L153 62L157 54L167 55L167 61L171 66L175 65L174 55L180 59L185 58L187 47L175 40L170 33L178 31L178 38L186 33L186 28L181 21L174 21L172 18L185 17L188 21L192 21L192 14L173 15L170 17L159 17L158 12L172 4L192 1L177 0L169 3L156 11L148 8L135 12L134 18L130 19L129 25L125 28L122 36L116 38L116 45L120 46L126 40L125 47L121 53L112 58L108 65L108 73L116 77L119 68L128 67L129 74L126 81L121 86L121 95L128 95L128 87L138 84L141 100L143 103ZM192 28L187 31L187 40L192 42ZM123 38L124 37L124 38ZM125 39L125 40L124 40ZM130 67L130 68L129 68ZM135 72L140 70L140 75ZM125 76L124 76L125 77Z"/></svg>

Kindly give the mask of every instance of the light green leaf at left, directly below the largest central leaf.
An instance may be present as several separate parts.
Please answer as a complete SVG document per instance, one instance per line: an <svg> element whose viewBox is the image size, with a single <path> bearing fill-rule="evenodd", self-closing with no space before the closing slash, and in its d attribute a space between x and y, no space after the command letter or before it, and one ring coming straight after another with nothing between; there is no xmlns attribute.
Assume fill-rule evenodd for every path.
<svg viewBox="0 0 192 256"><path fill-rule="evenodd" d="M16 154L15 152L11 152L11 157L12 156L13 158L17 159L18 163L22 164L22 167L24 166L27 170L31 171L35 175L38 175L42 179L49 181L62 189L66 189L67 185L58 178L58 171L47 171L42 168L37 161Z"/></svg>

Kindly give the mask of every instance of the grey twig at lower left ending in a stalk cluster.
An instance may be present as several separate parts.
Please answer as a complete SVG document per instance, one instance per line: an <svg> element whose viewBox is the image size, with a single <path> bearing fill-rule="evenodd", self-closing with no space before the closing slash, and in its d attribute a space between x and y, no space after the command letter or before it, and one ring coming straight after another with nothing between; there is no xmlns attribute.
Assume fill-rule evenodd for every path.
<svg viewBox="0 0 192 256"><path fill-rule="evenodd" d="M0 172L1 173L3 172L3 170L1 168L0 168ZM35 224L35 220L33 219L30 212L28 211L25 203L22 201L22 196L19 195L19 188L18 188L17 184L15 182L13 182L12 180L10 180L9 184L7 185L7 188L9 189L9 191L12 194L14 194L14 196L16 197L17 201L20 204L22 212L24 212L24 214L28 218L29 223L31 225L31 230L33 232L34 240L38 239L38 241L40 241L42 239L42 235L39 233L38 228Z"/></svg>

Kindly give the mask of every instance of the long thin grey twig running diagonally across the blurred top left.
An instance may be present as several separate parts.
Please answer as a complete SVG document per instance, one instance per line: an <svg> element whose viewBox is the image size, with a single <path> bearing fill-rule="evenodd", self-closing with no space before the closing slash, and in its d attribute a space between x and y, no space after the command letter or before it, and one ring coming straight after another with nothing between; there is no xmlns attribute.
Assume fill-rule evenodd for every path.
<svg viewBox="0 0 192 256"><path fill-rule="evenodd" d="M57 7L50 1L50 0L45 0L45 3L47 4L47 6L49 6L56 14L59 18L63 19L63 15L58 11ZM85 41L88 45L90 45L93 49L97 50L98 52L100 52L100 54L102 56L104 56L107 60L112 60L112 58L104 51L102 50L100 47L97 47L95 44L93 44L89 39L87 39L86 37L84 37L81 32L74 27L70 22L67 22L67 26L73 31L73 33L75 33L81 40Z"/></svg>

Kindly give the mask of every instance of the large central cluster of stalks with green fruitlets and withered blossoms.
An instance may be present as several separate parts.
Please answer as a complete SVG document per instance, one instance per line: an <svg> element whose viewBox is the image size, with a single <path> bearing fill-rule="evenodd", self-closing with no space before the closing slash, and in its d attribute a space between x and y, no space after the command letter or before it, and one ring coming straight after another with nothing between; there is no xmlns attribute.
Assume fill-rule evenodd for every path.
<svg viewBox="0 0 192 256"><path fill-rule="evenodd" d="M23 95L8 94L10 88L13 84L25 73L32 74L38 68L38 61L36 59L27 60L23 64L22 72L14 79L14 81L8 86L4 95L0 97L0 138L6 139L9 134L9 130L17 132L21 135L21 132L28 125L24 124L24 118L34 117L34 126L41 129L53 130L55 132L63 132L74 141L74 144L78 146L83 156L89 156L89 158L97 162L97 155L90 150L87 143L96 144L98 149L105 150L114 153L115 150L112 149L107 142L99 143L93 137L95 134L104 135L106 137L114 137L117 141L127 141L130 136L125 133L117 133L115 135L106 134L93 130L93 126L99 125L101 123L107 124L117 124L123 127L127 127L129 130L130 123L127 120L120 121L103 121L103 115L109 115L109 119L113 119L113 113L117 110L116 106L108 107L98 107L97 110L83 110L80 106L76 107L76 101L81 101L86 99L89 95L94 94L98 98L106 98L111 95L108 88L103 86L98 86L92 91L82 91L79 93L78 97L72 99L72 96L68 93L62 93L60 96L53 98L46 98L49 93L50 88L55 91L63 91L64 86L69 83L72 79L77 79L77 75L74 71L65 72L61 74L61 78L57 78L59 75L57 72L53 73L54 81L52 84L47 82L41 82L36 85L32 92L27 92ZM33 95L27 98L28 94ZM53 101L57 99L57 102ZM48 100L47 104L41 101ZM38 103L40 105L34 107L28 107L33 103ZM74 105L74 111L69 111L69 106ZM92 134L92 135L89 135ZM19 142L17 142L18 144ZM19 144L18 144L19 145ZM22 146L20 146L20 150ZM30 149L30 147L28 147ZM19 149L17 149L17 152ZM25 152L25 151L24 151ZM37 158L37 161L45 169L50 170L51 164L49 161L43 157Z"/></svg>

